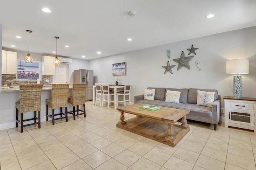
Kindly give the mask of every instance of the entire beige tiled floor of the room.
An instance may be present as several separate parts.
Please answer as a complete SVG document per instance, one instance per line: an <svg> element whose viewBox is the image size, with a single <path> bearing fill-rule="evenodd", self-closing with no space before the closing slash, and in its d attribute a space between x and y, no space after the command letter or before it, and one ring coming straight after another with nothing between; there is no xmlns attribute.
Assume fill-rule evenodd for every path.
<svg viewBox="0 0 256 170"><path fill-rule="evenodd" d="M86 118L0 131L1 170L255 170L256 133L188 121L169 147L116 127L120 113L86 102ZM129 119L134 115L125 114Z"/></svg>

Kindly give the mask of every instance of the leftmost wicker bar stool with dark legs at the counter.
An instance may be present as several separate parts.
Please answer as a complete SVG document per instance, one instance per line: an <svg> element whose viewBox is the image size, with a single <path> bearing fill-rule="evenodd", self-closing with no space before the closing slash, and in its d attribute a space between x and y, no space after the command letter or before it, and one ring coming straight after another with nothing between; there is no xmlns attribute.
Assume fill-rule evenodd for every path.
<svg viewBox="0 0 256 170"><path fill-rule="evenodd" d="M41 128L40 111L41 111L41 96L42 96L42 84L20 84L20 102L16 102L16 127L20 124L20 132L23 132L23 127L36 125ZM23 113L34 111L34 117L31 119L23 119ZM38 117L36 117L36 111L38 111ZM20 120L18 120L18 114L20 112ZM34 123L24 125L24 121L34 120ZM36 122L38 120L38 122Z"/></svg>

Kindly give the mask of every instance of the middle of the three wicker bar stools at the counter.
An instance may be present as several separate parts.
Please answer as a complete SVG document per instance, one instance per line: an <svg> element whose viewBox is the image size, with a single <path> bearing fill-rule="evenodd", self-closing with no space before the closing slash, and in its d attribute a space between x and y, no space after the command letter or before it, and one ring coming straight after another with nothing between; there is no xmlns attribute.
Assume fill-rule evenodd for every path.
<svg viewBox="0 0 256 170"><path fill-rule="evenodd" d="M66 118L68 121L68 87L69 84L52 84L52 98L46 99L46 121L48 117L52 119L52 125L54 121L58 119ZM48 106L52 108L52 115L48 115ZM62 112L62 107L65 107L65 113ZM54 109L60 108L60 113L54 114ZM55 116L60 115L60 117L55 118ZM62 117L65 115L65 117Z"/></svg>

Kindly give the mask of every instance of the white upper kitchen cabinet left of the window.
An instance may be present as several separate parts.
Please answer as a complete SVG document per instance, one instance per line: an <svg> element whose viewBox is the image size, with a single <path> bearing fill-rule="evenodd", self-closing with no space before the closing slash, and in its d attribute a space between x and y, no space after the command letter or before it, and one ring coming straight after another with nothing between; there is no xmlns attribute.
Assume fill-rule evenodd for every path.
<svg viewBox="0 0 256 170"><path fill-rule="evenodd" d="M16 74L17 53L2 50L2 74Z"/></svg>

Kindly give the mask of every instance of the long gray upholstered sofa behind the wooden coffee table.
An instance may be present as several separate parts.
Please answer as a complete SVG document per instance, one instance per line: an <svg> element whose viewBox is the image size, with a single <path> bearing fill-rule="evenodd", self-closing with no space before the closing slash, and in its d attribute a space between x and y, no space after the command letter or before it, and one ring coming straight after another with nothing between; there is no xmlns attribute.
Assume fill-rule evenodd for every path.
<svg viewBox="0 0 256 170"><path fill-rule="evenodd" d="M214 130L216 131L217 125L220 121L220 113L221 113L220 112L220 95L218 95L217 90L196 89L196 88L176 89L176 88L152 88L152 87L149 87L147 89L155 89L154 100L146 100L144 99L144 94L142 94L142 95L134 96L134 103L152 104L156 106L173 107L177 109L188 109L190 110L190 112L186 117L187 119L214 124ZM179 104L165 102L165 95L167 90L180 92ZM215 92L214 102L212 103L212 107L196 105L197 90L205 91L205 92Z"/></svg>

